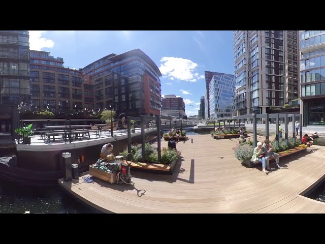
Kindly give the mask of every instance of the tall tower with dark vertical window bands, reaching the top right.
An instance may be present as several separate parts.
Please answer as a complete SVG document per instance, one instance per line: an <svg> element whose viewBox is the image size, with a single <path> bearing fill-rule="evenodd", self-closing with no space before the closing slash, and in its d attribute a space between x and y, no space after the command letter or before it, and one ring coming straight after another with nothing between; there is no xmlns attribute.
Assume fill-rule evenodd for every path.
<svg viewBox="0 0 325 244"><path fill-rule="evenodd" d="M298 31L234 31L237 115L299 98Z"/></svg>

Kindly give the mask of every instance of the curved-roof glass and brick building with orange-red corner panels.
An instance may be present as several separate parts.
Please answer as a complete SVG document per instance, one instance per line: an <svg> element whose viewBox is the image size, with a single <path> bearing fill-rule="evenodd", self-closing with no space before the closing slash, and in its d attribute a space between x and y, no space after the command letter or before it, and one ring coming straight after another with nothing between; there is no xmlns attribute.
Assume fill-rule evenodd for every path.
<svg viewBox="0 0 325 244"><path fill-rule="evenodd" d="M95 109L111 108L124 116L155 116L161 107L161 73L140 49L110 54L82 69L94 85Z"/></svg>

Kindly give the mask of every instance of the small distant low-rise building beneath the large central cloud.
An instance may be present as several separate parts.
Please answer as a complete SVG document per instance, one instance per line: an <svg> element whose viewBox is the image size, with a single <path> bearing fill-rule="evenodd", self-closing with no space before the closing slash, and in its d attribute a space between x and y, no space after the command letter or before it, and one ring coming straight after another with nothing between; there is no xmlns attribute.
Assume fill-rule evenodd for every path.
<svg viewBox="0 0 325 244"><path fill-rule="evenodd" d="M186 114L183 98L165 95L165 98L161 99L161 115L184 118Z"/></svg>

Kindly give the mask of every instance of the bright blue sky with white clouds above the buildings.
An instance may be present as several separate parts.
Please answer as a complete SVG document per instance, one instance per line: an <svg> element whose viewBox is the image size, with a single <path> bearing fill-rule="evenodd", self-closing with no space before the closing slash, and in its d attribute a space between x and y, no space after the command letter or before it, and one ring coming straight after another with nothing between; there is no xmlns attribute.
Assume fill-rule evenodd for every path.
<svg viewBox="0 0 325 244"><path fill-rule="evenodd" d="M140 48L158 66L161 94L184 99L187 115L198 114L205 94L204 71L234 74L232 31L30 31L31 50L62 57L83 68L110 53ZM190 106L193 105L192 106Z"/></svg>

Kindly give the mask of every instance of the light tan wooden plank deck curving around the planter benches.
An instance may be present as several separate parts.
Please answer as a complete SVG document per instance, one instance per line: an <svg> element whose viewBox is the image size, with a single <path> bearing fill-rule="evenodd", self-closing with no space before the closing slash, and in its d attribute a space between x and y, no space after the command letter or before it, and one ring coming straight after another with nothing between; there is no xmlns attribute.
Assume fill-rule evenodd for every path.
<svg viewBox="0 0 325 244"><path fill-rule="evenodd" d="M103 212L325 213L325 203L299 195L325 174L325 147L313 146L300 158L280 160L282 168L266 175L261 165L246 168L234 157L236 142L190 135L177 143L182 158L173 175L132 171L134 186L100 179L85 183L82 178L59 184ZM162 140L161 146L167 142Z"/></svg>

